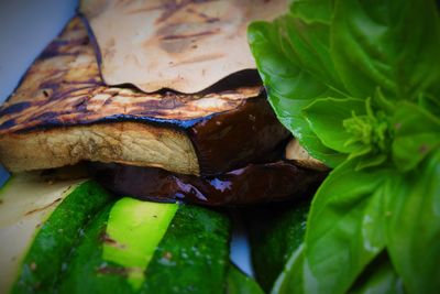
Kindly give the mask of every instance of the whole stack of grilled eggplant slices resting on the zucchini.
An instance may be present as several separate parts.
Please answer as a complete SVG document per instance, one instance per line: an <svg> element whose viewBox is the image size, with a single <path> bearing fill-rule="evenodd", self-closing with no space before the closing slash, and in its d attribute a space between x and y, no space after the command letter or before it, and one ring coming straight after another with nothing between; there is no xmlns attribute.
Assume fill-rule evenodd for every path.
<svg viewBox="0 0 440 294"><path fill-rule="evenodd" d="M234 1L184 1L174 8L153 2L142 7L116 0L81 2L85 18L67 24L1 107L1 163L11 172L22 172L91 162L91 171L106 188L141 199L218 206L300 196L324 173L284 157L289 133L272 111L254 65L228 55L229 47L218 47L228 52L221 61L229 56L231 67L223 68L223 62L196 50L229 40L233 33L234 50L252 61L244 26L231 20L271 19L285 3L256 2L260 6L249 8ZM235 14L228 13L234 8ZM166 20L165 14L169 14ZM213 33L201 33L205 26L195 23ZM148 30L140 36L134 28L143 25ZM133 46L128 47L128 42ZM185 47L188 42L195 52ZM170 54L172 47L182 46L193 57ZM123 64L116 59L121 54ZM130 75L138 73L132 66L154 62L162 66L157 76L147 75L142 85L136 84L139 76ZM237 66L246 70L237 72ZM193 74L206 70L202 81L210 81L209 88L176 91L193 85L188 84ZM123 73L131 85L106 84L108 79L114 84ZM163 83L157 84L162 74ZM176 88L169 89L174 85L169 75L182 79ZM144 90L161 86L161 90L144 92L134 86Z"/></svg>

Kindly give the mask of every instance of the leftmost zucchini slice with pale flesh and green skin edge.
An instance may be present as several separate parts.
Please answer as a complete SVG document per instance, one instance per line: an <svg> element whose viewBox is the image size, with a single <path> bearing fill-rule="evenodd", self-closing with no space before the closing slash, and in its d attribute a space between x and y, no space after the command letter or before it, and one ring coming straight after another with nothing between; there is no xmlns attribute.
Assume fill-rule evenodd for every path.
<svg viewBox="0 0 440 294"><path fill-rule="evenodd" d="M1 190L1 293L47 293L90 218L111 197L95 182L13 175Z"/></svg>

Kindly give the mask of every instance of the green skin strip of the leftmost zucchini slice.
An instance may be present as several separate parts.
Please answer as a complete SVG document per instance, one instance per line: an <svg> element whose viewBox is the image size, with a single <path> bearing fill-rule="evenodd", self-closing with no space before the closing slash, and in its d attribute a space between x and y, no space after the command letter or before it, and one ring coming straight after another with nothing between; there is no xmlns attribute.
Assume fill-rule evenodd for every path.
<svg viewBox="0 0 440 294"><path fill-rule="evenodd" d="M66 196L36 233L11 293L52 292L84 228L111 198L92 181L81 183Z"/></svg>

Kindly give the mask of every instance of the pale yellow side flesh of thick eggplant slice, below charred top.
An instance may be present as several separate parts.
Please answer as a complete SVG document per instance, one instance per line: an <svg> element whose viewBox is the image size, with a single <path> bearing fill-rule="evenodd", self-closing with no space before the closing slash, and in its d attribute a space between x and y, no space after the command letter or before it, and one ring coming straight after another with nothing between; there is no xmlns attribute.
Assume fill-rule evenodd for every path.
<svg viewBox="0 0 440 294"><path fill-rule="evenodd" d="M134 122L78 126L3 137L0 139L0 157L12 172L99 161L199 174L197 155L186 134Z"/></svg>

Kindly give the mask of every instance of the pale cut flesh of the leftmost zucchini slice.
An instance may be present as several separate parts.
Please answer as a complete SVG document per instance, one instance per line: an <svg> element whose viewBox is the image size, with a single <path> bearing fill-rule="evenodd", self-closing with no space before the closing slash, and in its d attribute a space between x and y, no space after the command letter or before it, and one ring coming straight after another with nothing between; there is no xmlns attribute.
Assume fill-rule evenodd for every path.
<svg viewBox="0 0 440 294"><path fill-rule="evenodd" d="M44 182L38 173L13 175L0 190L0 293L8 293L42 222L84 179Z"/></svg>

